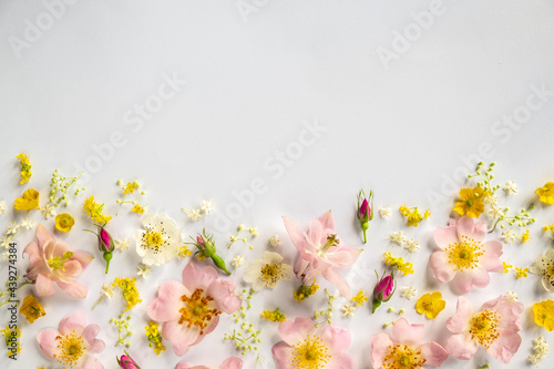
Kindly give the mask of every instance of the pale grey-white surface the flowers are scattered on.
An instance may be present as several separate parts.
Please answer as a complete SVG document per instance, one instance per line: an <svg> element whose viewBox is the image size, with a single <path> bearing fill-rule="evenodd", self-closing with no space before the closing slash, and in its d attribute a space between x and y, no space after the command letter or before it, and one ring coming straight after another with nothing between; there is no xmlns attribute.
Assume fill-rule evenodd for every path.
<svg viewBox="0 0 554 369"><path fill-rule="evenodd" d="M429 321L416 314L414 300L401 299L400 294L389 306L404 307L410 322L424 322L429 339L444 344L448 334L443 325L455 310L456 295L448 286L433 283L425 268L433 248L432 230L449 219L454 194L463 184L460 178L469 171L468 157L473 162L475 155L496 161L500 183L517 183L520 194L507 201L514 208L527 205L534 189L553 180L553 92L543 96L540 107L520 119L522 123L502 123L503 116L523 114L529 99L541 102L530 98L534 89L554 91L551 1L444 1L433 6L419 0L82 0L65 6L59 19L50 18L52 24L44 23L32 42L16 51L11 45L14 38L24 40L29 24L37 24L41 17L48 21L44 3L0 2L0 198L8 204L23 191L17 185L19 172L13 157L25 152L33 164L29 186L39 189L42 198L54 168L65 175L86 170L91 175L85 195L105 201L109 213L120 214L111 226L116 238L129 238L140 227L140 218L115 204L115 181L138 180L147 191L148 211L166 212L185 235L205 226L215 234L222 250L238 223L256 225L259 236L254 242L255 250L234 246L229 253L223 252L228 259L237 253L248 259L260 256L267 238L278 234L284 244L281 253L291 263L296 254L281 215L305 227L310 218L332 209L341 239L361 246L353 204L360 187L372 188L376 207L392 207L393 217L386 222L377 218L371 224L370 242L349 279L358 280L355 288L370 293L372 270L382 268L382 253L403 255L384 237L403 229L418 238L422 249L407 256L417 273L399 278L399 287L417 286L418 297L441 290L447 309ZM239 3L257 11L242 13ZM394 50L399 33L417 31L413 13L429 16L433 9L440 11L432 20L427 18L427 30L411 37L407 50L387 68L379 48ZM164 75L186 80L186 85L164 101L158 112L138 123L136 105L157 93ZM306 122L315 121L326 131L297 155L295 142L304 134ZM114 134L122 136L120 147L110 144ZM480 153L480 145L486 150ZM277 164L279 152L287 150L294 160L287 161L287 166ZM469 166L473 168L473 164ZM237 202L236 194L257 177L264 181L265 191L255 196L252 206L240 207L229 229L215 225L216 216L226 214ZM94 238L80 230L90 227L80 216L83 198L80 196L68 208L79 215L75 228L66 236L55 235L66 238L75 249L95 253L100 260ZM188 223L179 208L199 206L204 198L214 201L216 215L198 224ZM419 228L406 229L396 212L404 203L431 207L431 219ZM30 217L41 221L40 214L33 213ZM505 259L511 264L529 266L552 245L542 237L540 227L554 221L553 209L538 208L536 215L532 243L505 246ZM10 208L0 222L7 225L14 216L22 217ZM53 228L52 218L42 222ZM18 237L18 244L23 247L32 238L29 232ZM113 299L94 310L90 307L101 283L132 276L137 263L132 245L125 255L114 256L105 280L101 279L101 263L94 262L83 273L81 280L90 286L84 301L66 298L61 291L43 299L48 316L32 326L21 321L23 351L8 368L48 367L34 335L42 328L57 327L78 308L85 311L90 322L101 326L99 337L105 340L106 350L100 359L105 368L115 368L114 357L122 349L113 347L116 334L107 319L120 312L122 303ZM143 326L147 321L146 303L155 297L157 285L178 279L184 265L168 263L140 281L143 304L134 310L135 335L130 352L143 368L173 368L179 361L171 347L154 356L144 344ZM25 267L27 260L20 260L21 270ZM237 271L232 278L239 281L240 275ZM527 307L522 316L523 344L506 367L524 367L532 338L543 335L554 344L551 334L534 327L529 316L530 306L546 296L535 276L517 281L513 274L491 279L486 289L468 297L479 308L509 289L520 294ZM319 294L297 308L291 300L296 287L295 280L259 293L250 317L255 319L256 311L277 305L289 318L325 307ZM339 308L341 304L337 305ZM397 319L386 307L373 316L368 309L358 309L352 319L342 319L337 311L335 318L337 325L352 331L349 352L358 368L370 368L369 336L381 331L383 321ZM194 365L217 367L235 352L228 342L222 342L230 325L230 319L222 319L218 328L184 358ZM279 340L276 326L261 324L261 328L260 351L266 363L258 368L275 368L270 347ZM552 366L552 357L541 366ZM246 357L245 368L254 367L253 358ZM480 351L475 360L449 359L444 367L474 368L486 361ZM502 367L492 358L490 361L493 368Z"/></svg>

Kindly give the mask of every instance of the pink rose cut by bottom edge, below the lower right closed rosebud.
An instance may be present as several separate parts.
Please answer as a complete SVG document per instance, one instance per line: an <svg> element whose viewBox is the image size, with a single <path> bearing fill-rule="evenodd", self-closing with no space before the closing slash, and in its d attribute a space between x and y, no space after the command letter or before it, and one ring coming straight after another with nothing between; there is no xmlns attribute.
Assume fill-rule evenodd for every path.
<svg viewBox="0 0 554 369"><path fill-rule="evenodd" d="M371 336L371 363L373 368L440 367L449 357L439 344L423 342L423 325L410 325L400 318L392 326L392 334Z"/></svg>

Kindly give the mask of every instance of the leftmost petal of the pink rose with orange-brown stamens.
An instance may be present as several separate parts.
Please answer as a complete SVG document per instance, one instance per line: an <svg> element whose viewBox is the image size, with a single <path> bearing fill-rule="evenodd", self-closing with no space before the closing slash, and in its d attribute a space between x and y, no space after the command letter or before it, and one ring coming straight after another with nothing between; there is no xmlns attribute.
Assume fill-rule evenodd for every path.
<svg viewBox="0 0 554 369"><path fill-rule="evenodd" d="M189 294L177 280L165 281L157 288L157 298L147 305L146 314L156 321L177 320L181 317L178 310L183 307L181 297Z"/></svg>

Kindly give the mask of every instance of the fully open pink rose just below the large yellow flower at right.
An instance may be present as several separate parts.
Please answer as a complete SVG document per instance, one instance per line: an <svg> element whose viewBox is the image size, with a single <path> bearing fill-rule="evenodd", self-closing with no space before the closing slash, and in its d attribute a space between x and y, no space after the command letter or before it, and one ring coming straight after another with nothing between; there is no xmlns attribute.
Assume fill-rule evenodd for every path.
<svg viewBox="0 0 554 369"><path fill-rule="evenodd" d="M486 226L483 222L462 217L450 219L447 227L437 227L434 242L440 250L431 255L429 266L434 278L441 283L453 280L461 294L472 286L480 288L489 285L489 271L504 270L500 256L502 244L486 240Z"/></svg>

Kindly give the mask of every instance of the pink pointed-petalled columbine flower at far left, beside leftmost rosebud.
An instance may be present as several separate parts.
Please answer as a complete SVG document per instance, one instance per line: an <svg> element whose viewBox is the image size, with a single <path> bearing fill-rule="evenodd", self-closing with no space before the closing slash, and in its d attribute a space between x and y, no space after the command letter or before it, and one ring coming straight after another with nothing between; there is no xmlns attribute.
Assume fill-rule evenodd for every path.
<svg viewBox="0 0 554 369"><path fill-rule="evenodd" d="M24 277L34 284L37 295L53 295L55 283L69 296L85 298L89 288L73 277L79 276L92 262L92 255L73 252L64 242L55 240L42 224L37 227L37 240L38 244L31 242L23 250L31 262Z"/></svg>

